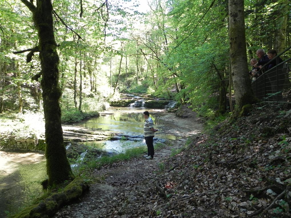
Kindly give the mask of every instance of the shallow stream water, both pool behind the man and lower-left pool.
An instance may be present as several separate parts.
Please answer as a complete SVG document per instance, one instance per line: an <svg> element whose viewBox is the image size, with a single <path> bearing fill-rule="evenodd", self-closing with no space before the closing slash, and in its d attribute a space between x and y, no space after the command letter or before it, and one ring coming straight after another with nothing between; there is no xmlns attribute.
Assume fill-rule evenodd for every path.
<svg viewBox="0 0 291 218"><path fill-rule="evenodd" d="M120 152L128 147L146 146L143 139L143 111L148 110L154 121L154 127L162 129L166 115L163 109L145 108L110 108L102 112L100 117L93 117L85 121L70 124L86 128L101 128L112 133L126 135L131 140L106 140L85 142L106 151ZM157 132L160 142L175 140L176 137ZM0 217L7 217L18 208L29 204L42 194L40 185L46 177L46 161L43 152L0 151Z"/></svg>

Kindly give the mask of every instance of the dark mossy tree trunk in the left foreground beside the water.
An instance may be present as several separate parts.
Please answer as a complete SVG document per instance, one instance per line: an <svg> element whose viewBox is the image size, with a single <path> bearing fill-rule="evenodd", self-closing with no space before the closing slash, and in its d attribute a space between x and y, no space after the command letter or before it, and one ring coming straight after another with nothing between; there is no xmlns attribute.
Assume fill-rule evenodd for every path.
<svg viewBox="0 0 291 218"><path fill-rule="evenodd" d="M38 30L45 115L45 156L47 159L48 186L52 186L73 178L66 156L61 126L61 108L59 105L61 89L58 84L59 57L56 52L57 45L54 37L53 7L51 0L36 0L36 6L27 0L21 1L33 13L33 21Z"/></svg>

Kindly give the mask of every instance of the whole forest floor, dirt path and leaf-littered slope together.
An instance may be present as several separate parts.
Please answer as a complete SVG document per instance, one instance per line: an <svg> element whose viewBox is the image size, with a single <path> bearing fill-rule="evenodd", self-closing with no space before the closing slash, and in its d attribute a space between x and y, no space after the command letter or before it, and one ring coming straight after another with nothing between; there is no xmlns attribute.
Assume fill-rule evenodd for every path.
<svg viewBox="0 0 291 218"><path fill-rule="evenodd" d="M163 130L180 140L153 160L93 171L98 182L54 217L290 217L291 110L254 105L211 134L183 110L185 118L164 117Z"/></svg>

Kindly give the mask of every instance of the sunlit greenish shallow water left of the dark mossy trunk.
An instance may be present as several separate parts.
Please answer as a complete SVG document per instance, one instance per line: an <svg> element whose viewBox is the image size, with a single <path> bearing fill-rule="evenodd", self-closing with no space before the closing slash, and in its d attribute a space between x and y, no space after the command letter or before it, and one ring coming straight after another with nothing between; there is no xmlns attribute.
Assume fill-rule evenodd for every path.
<svg viewBox="0 0 291 218"><path fill-rule="evenodd" d="M45 175L43 153L0 151L0 217L40 196Z"/></svg>

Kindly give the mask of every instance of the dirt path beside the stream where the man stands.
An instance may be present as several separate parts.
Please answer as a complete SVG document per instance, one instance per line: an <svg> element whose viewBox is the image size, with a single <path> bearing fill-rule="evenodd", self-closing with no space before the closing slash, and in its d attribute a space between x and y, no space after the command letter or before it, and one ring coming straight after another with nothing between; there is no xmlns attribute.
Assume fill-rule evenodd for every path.
<svg viewBox="0 0 291 218"><path fill-rule="evenodd" d="M93 172L93 180L98 182L90 186L89 192L82 199L62 208L54 217L125 218L128 217L126 214L129 210L131 214L136 211L137 217L145 217L146 211L142 209L144 205L136 201L137 198L149 201L152 190L144 184L153 184L157 173L164 170L162 160L169 157L173 150L181 148L187 137L194 137L202 129L194 112L186 108L184 114L187 118L178 118L172 113L161 117L166 121L164 126L158 126L161 132L179 137L172 145L156 150L153 160L141 157L96 170Z"/></svg>

